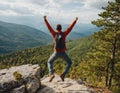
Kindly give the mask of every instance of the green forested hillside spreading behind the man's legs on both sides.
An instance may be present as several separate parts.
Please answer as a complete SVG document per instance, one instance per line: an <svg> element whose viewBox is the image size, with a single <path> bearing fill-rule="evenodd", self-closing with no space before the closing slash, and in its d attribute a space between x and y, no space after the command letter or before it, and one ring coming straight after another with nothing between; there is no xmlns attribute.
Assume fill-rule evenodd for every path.
<svg viewBox="0 0 120 93"><path fill-rule="evenodd" d="M67 42L67 53L70 56L73 64L67 77L72 79L82 79L83 81L92 84L93 86L105 87L105 62L101 58L98 61L98 53L96 53L95 47L98 46L97 41L93 36L70 40ZM9 68L15 65L22 64L39 64L41 67L41 76L48 74L47 60L52 54L53 45L40 46L36 48L30 48L15 53L0 55L0 68ZM93 55L92 55L93 54ZM104 55L104 54L103 54ZM101 57L101 56L100 56ZM57 59L54 62L54 69L56 74L61 74L65 68L65 61ZM116 65L116 75L114 76L114 83L119 84L119 67ZM118 85L114 88L119 89ZM119 91L119 90L118 90ZM117 93L117 92L116 92ZM119 93L119 92L118 92Z"/></svg>

